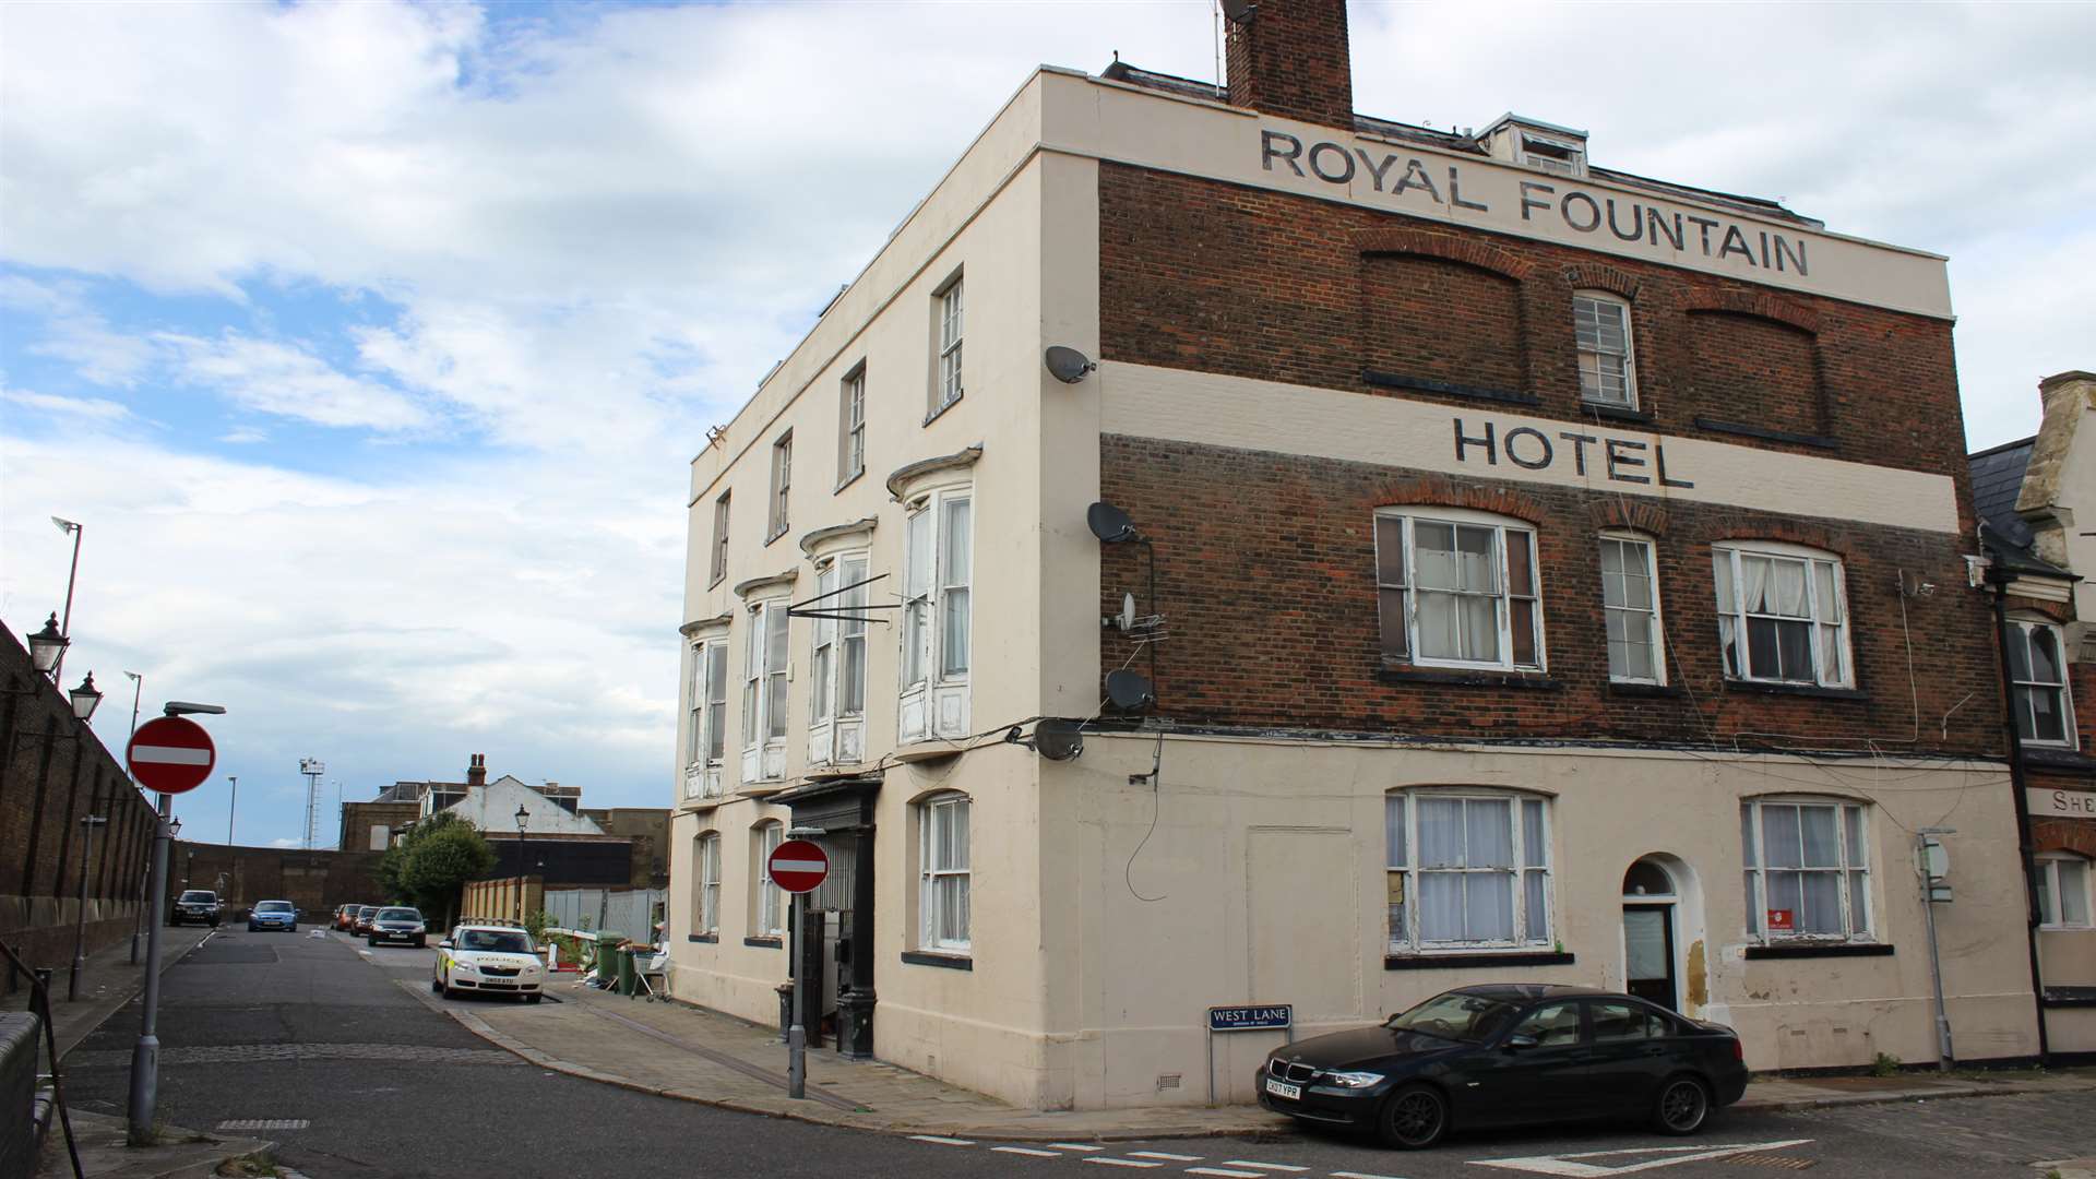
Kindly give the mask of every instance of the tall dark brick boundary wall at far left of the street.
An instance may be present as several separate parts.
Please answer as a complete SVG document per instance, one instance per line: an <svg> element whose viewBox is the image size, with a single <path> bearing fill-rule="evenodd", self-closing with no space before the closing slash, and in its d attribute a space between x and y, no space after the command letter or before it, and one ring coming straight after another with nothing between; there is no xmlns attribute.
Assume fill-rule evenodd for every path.
<svg viewBox="0 0 2096 1179"><path fill-rule="evenodd" d="M31 965L65 967L80 917L80 820L109 816L86 862L92 952L134 929L153 803L103 738L73 720L71 701L36 671L21 638L4 625L0 636L0 940ZM130 717L117 720L113 696L96 717L119 734Z"/></svg>

